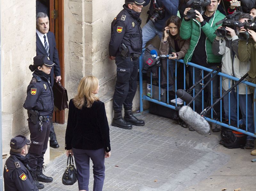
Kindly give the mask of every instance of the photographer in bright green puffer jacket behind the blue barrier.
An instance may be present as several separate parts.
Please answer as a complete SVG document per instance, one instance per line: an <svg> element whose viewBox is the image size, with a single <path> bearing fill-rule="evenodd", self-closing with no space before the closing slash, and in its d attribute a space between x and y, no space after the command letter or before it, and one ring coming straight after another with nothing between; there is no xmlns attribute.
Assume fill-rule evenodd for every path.
<svg viewBox="0 0 256 191"><path fill-rule="evenodd" d="M221 65L221 56L215 56L212 53L212 42L216 37L214 33L218 26L215 25L216 22L222 20L225 16L217 10L220 0L211 0L211 3L206 6L205 12L203 15L200 14L197 10L196 18L189 19L187 17L187 12L191 8L186 8L184 11L184 18L181 22L180 27L180 37L182 39L191 39L188 52L184 57L184 63L193 62L195 64L204 66L206 68L214 69L216 66ZM193 67L189 66L189 72L191 76L194 76L193 84L199 81L201 76L201 70L195 68L195 73L193 74ZM208 72L204 71L204 76ZM204 84L210 80L210 76L204 80ZM209 84L207 88L207 105L211 105L211 94L212 94L212 103L214 103L219 97L219 84L220 78L216 76L212 79L212 91L211 85ZM195 94L200 91L201 85L195 87ZM212 93L211 93L212 92ZM202 105L202 94L198 95L195 99L195 111L201 113L204 109ZM218 120L220 118L220 104L214 106L213 118ZM209 115L209 114L208 114ZM208 117L211 117L208 116ZM192 128L189 128L190 131L193 131ZM212 123L212 131L220 131L220 125Z"/></svg>

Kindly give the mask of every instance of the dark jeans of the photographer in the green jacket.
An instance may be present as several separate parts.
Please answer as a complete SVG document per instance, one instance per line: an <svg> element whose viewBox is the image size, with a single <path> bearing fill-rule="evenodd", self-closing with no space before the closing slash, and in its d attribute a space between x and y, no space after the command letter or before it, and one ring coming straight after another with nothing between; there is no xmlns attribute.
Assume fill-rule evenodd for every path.
<svg viewBox="0 0 256 191"><path fill-rule="evenodd" d="M211 67L208 67L210 69L214 69L216 68L216 66L211 66ZM192 66L189 66L188 68L189 70L189 73L193 79L193 67ZM204 76L206 76L209 72L207 71L204 71ZM208 82L211 78L211 75L208 76L206 79L204 79L204 84L206 84L206 82ZM200 79L202 79L202 75L201 75L201 69L199 68L195 68L195 76L194 76L194 79L195 81L193 82L196 83L198 82ZM204 89L204 92L206 90L207 92L207 106L211 106L212 103L214 103L217 99L220 98L220 93L219 93L219 86L220 86L220 77L219 76L215 76L213 79L212 79L212 88L211 88L211 82L206 86L206 88ZM201 85L197 85L195 87L195 95L196 93L198 93L200 90L201 90L202 86ZM205 94L204 94L205 95ZM211 98L211 95L212 95L212 98ZM212 99L212 103L211 103L211 99ZM202 92L196 97L195 99L195 111L197 113L201 113L204 109L204 100L202 101ZM190 106L192 106L193 108L193 105L190 104ZM214 111L212 112L213 114L213 119L216 119L216 118L220 118L220 102L217 103L214 107L213 107ZM211 118L211 110L209 113L207 113L207 116Z"/></svg>

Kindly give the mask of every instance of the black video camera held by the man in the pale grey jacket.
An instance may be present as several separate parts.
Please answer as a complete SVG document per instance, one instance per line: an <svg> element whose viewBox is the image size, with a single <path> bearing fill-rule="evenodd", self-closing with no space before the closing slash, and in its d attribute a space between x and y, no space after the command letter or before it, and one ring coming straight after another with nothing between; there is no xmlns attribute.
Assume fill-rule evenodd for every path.
<svg viewBox="0 0 256 191"><path fill-rule="evenodd" d="M243 27L244 23L241 23L238 20L238 16L243 14L243 12L235 11L231 15L226 16L223 20L218 21L215 25L218 26L220 23L221 28L216 30L216 35L219 37L225 37L227 35L226 27L236 29L236 27Z"/></svg>

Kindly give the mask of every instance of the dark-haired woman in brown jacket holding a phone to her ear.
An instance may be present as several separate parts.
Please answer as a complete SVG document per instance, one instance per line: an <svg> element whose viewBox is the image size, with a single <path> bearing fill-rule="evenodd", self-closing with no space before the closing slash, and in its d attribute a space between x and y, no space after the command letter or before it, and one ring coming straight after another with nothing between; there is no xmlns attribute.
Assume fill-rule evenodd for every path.
<svg viewBox="0 0 256 191"><path fill-rule="evenodd" d="M182 59L188 51L190 44L190 39L183 40L180 37L180 18L178 16L171 16L164 27L164 35L161 40L159 53L167 55L169 54L169 59ZM169 91L172 90L170 85L173 84L173 72L174 72L174 62L169 60ZM177 89L184 89L184 72L183 64L177 63ZM161 85L167 85L167 59L162 59L162 71L161 71ZM186 84L187 86L187 84Z"/></svg>

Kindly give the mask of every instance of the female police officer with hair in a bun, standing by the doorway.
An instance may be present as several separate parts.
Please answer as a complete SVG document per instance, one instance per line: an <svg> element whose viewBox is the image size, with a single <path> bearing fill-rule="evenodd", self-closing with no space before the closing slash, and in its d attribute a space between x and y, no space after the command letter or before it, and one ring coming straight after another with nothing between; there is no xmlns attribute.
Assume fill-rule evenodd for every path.
<svg viewBox="0 0 256 191"><path fill-rule="evenodd" d="M29 66L29 69L34 71L33 78L28 85L27 98L23 105L28 110L28 128L31 139L28 151L29 166L38 189L44 188L44 185L38 181L52 182L52 177L45 176L42 168L54 108L50 83L51 68L54 65L55 63L48 56L34 57L34 65Z"/></svg>

